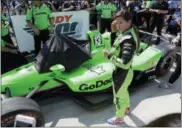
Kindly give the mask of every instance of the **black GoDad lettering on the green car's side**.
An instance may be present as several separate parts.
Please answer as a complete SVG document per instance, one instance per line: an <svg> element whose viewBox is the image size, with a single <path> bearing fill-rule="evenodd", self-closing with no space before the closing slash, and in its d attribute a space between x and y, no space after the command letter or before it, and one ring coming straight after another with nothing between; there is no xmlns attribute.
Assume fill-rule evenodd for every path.
<svg viewBox="0 0 182 128"><path fill-rule="evenodd" d="M100 88L102 86L108 85L111 82L112 82L112 78L107 79L107 80L99 80L99 81L96 81L96 83L95 84L92 84L92 85L81 84L80 87L79 87L79 90L81 90L81 91L93 90L95 88Z"/></svg>

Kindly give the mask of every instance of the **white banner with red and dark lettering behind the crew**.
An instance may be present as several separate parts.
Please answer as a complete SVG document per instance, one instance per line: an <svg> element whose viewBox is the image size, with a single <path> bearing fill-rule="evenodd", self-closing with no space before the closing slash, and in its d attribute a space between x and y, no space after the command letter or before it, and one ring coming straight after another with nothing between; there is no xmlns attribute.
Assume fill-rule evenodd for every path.
<svg viewBox="0 0 182 128"><path fill-rule="evenodd" d="M86 39L89 30L89 13L87 11L54 12L54 30L76 39ZM33 31L26 27L25 15L12 16L12 23L20 52L34 50Z"/></svg>

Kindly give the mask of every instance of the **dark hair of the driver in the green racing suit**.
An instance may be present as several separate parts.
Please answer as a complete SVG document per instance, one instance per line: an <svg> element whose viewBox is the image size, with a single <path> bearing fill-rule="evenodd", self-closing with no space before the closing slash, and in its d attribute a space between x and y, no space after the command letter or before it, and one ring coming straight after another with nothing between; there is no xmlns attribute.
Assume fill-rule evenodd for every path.
<svg viewBox="0 0 182 128"><path fill-rule="evenodd" d="M118 17L122 17L126 21L132 21L132 14L127 9L121 9L119 12L117 12L114 19Z"/></svg>

